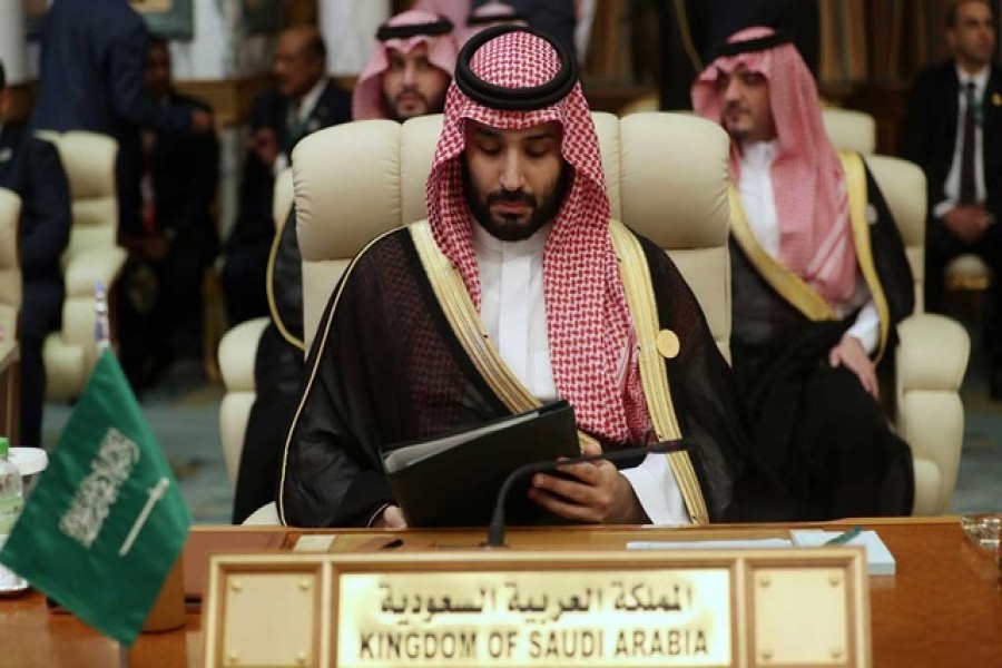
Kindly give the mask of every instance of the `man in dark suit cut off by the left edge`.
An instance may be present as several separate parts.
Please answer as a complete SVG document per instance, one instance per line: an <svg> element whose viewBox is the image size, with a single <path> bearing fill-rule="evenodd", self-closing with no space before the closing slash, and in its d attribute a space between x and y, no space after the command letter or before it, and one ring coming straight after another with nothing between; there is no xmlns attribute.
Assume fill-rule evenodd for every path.
<svg viewBox="0 0 1002 668"><path fill-rule="evenodd" d="M21 443L41 445L46 395L41 348L46 334L59 325L62 311L59 256L69 242L69 181L55 146L2 122L9 104L0 63L0 187L21 198Z"/></svg>

